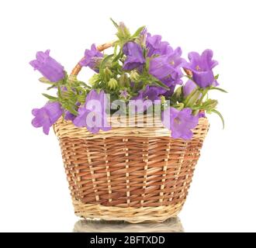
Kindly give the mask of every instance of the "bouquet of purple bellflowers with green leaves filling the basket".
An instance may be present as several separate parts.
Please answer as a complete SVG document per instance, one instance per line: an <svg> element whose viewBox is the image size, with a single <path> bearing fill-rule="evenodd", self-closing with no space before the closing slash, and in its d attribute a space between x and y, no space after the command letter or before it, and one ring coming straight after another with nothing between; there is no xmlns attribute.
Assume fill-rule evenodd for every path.
<svg viewBox="0 0 256 248"><path fill-rule="evenodd" d="M33 109L33 126L43 127L48 134L62 116L74 126L98 133L111 129L107 116L116 112L131 115L160 109L163 126L171 130L171 136L190 140L192 129L206 113L216 113L223 121L216 110L218 102L208 94L212 90L226 92L219 88L219 75L213 74L218 62L213 60L212 50L191 52L185 60L180 47L172 48L144 26L131 34L123 22L112 22L117 29L112 53L102 53L92 44L80 61L80 66L95 71L88 83L68 76L50 57L50 50L36 53L30 64L43 74L40 81L50 84L47 89L56 94L43 94L48 102Z"/></svg>

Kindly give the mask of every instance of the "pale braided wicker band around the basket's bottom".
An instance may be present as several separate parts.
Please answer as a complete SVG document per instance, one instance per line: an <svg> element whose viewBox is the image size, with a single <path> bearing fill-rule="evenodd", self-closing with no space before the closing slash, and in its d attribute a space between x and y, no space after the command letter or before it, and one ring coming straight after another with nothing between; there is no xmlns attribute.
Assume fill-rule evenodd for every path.
<svg viewBox="0 0 256 248"><path fill-rule="evenodd" d="M125 221L130 223L140 222L164 222L176 217L182 210L184 202L176 205L141 208L121 208L95 204L84 204L77 200L73 201L74 213L82 218L103 219L107 221Z"/></svg>

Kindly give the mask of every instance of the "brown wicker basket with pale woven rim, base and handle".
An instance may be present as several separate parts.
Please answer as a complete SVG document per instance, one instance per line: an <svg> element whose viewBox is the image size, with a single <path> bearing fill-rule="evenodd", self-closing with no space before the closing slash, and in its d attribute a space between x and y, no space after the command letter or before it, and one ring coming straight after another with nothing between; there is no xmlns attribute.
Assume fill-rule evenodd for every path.
<svg viewBox="0 0 256 248"><path fill-rule="evenodd" d="M80 70L77 64L72 74ZM156 125L95 135L62 119L54 125L76 215L127 222L164 222L178 215L209 122L199 119L189 141L172 139L161 122L151 122Z"/></svg>

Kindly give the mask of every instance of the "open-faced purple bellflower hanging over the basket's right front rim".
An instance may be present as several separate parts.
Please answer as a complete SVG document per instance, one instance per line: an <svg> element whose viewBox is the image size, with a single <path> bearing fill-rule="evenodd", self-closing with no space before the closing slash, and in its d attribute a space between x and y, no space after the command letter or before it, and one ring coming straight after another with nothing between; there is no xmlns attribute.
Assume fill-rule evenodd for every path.
<svg viewBox="0 0 256 248"><path fill-rule="evenodd" d="M194 129L199 122L199 115L192 115L191 108L178 110L169 107L162 112L161 116L164 127L171 130L174 139L191 140Z"/></svg>

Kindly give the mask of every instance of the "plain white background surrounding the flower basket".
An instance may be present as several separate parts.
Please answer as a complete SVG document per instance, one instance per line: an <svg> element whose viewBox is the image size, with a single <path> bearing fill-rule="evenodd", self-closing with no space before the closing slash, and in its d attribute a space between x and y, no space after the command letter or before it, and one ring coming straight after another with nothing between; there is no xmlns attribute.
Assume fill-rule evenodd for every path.
<svg viewBox="0 0 256 248"><path fill-rule="evenodd" d="M0 2L0 231L71 232L78 221L53 131L30 122L44 85L29 66L37 50L67 71L92 43L113 40L109 17L131 30L147 25L171 46L211 48L228 95L216 92L217 116L195 170L180 218L186 232L256 231L255 1L1 1ZM86 77L84 70L81 78Z"/></svg>

